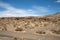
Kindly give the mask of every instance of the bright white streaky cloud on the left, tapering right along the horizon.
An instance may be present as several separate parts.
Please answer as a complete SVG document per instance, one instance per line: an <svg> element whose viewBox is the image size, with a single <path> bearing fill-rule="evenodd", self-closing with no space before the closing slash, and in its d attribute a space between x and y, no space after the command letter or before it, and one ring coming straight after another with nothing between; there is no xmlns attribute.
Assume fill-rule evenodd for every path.
<svg viewBox="0 0 60 40"><path fill-rule="evenodd" d="M32 10L17 9L12 7L7 3L0 2L0 7L3 7L7 10L0 12L0 17L10 17L10 16L37 16L32 12Z"/></svg>

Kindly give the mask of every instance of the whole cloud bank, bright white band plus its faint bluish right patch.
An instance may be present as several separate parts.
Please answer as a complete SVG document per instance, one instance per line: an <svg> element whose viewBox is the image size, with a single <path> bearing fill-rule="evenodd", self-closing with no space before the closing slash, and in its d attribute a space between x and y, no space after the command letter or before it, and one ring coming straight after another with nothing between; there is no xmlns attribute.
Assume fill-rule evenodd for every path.
<svg viewBox="0 0 60 40"><path fill-rule="evenodd" d="M0 7L7 10L0 11L0 17L11 17L11 16L38 16L36 13L48 12L49 9L40 6L34 6L33 9L17 9L12 7L10 4L0 2ZM35 9L35 10L34 10Z"/></svg>

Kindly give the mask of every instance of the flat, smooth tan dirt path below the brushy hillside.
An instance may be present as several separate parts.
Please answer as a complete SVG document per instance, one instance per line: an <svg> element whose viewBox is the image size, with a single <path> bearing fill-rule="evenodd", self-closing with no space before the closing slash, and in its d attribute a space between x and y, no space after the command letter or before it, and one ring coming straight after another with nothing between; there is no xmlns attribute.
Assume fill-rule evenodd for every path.
<svg viewBox="0 0 60 40"><path fill-rule="evenodd" d="M1 40L60 40L59 36L35 35L29 33L0 32Z"/></svg>

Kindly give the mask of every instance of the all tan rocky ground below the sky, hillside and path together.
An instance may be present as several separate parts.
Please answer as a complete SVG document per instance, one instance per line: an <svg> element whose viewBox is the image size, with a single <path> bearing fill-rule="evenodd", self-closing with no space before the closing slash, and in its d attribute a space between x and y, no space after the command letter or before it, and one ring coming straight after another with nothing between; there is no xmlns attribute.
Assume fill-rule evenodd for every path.
<svg viewBox="0 0 60 40"><path fill-rule="evenodd" d="M1 40L60 40L60 13L0 18Z"/></svg>

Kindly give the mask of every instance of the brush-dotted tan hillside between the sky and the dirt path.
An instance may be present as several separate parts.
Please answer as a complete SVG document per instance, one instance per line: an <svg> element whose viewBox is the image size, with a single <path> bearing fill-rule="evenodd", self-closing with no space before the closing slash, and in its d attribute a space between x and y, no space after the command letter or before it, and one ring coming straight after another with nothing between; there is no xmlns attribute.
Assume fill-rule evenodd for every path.
<svg viewBox="0 0 60 40"><path fill-rule="evenodd" d="M36 17L3 17L0 18L0 31L59 35L60 13Z"/></svg>

